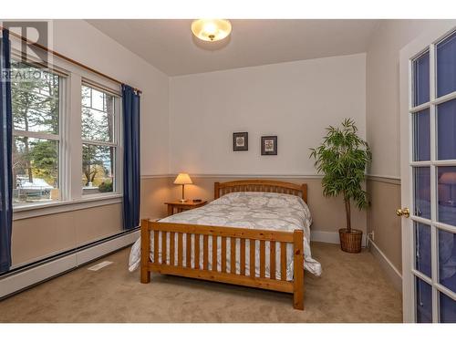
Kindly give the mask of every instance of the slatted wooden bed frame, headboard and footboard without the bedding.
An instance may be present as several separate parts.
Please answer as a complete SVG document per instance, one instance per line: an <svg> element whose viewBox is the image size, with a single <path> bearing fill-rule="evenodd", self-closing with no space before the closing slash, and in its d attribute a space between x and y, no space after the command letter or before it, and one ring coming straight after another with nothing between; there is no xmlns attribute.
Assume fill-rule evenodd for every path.
<svg viewBox="0 0 456 342"><path fill-rule="evenodd" d="M214 199L229 192L278 192L294 194L302 197L307 202L307 185L294 184L285 181L267 180L245 180L228 181L214 183ZM150 234L154 234L154 262L150 261ZM161 239L161 251L164 253L159 260L159 235ZM164 235L163 235L164 234ZM167 262L167 234L170 234L170 255ZM177 234L177 246L175 245L175 235ZM182 246L182 236L187 234L185 249ZM192 235L195 235L192 245ZM202 235L202 246L200 245L200 235ZM219 272L217 267L208 267L208 242L212 239L212 264L217 265L217 237L221 236L222 241L222 270ZM226 271L226 240L231 239L231 267L232 273ZM236 239L240 239L240 275L235 273L236 259ZM245 275L245 240L250 242L260 241L260 276L255 272L252 275ZM265 277L265 242L270 243L270 276ZM198 244L196 244L198 242ZM275 244L280 244L280 264L275 263ZM286 244L293 244L294 258L294 277L293 280L286 280ZM175 250L177 248L177 260L175 260ZM202 248L202 264L200 264L200 248ZM182 253L186 253L186 263L182 262ZM192 267L192 254L195 264ZM267 290L292 293L294 295L293 306L295 309L304 310L304 246L303 231L294 232L268 231L252 228L231 228L217 227L212 225L200 224L181 224L181 223L160 223L150 220L141 221L141 264L140 282L150 283L150 272L158 272L162 275L180 275L190 278L209 280L233 285L244 285L258 287ZM275 269L280 267L281 279L275 279ZM254 248L250 252L250 269L255 270Z"/></svg>

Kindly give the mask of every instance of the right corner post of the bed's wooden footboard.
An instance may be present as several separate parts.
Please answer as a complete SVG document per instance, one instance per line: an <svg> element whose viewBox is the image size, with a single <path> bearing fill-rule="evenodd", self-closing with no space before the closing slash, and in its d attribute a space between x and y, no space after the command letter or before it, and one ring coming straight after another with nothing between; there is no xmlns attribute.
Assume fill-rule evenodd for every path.
<svg viewBox="0 0 456 342"><path fill-rule="evenodd" d="M304 310L304 245L303 231L295 230L293 233L293 307L298 310Z"/></svg>

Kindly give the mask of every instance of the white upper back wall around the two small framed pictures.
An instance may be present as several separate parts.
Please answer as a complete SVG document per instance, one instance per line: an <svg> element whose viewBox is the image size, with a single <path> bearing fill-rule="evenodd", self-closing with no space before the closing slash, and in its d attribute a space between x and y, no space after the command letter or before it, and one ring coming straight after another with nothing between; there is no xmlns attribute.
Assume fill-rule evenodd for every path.
<svg viewBox="0 0 456 342"><path fill-rule="evenodd" d="M329 125L366 127L366 55L326 57L170 79L170 171L197 174L315 174L309 148ZM233 132L249 150L233 151ZM278 136L278 155L260 137Z"/></svg>

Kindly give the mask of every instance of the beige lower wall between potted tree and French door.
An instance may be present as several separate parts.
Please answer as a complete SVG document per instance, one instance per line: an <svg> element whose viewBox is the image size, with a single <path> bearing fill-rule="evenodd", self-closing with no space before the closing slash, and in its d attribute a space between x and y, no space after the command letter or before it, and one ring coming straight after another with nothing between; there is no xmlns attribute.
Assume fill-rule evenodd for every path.
<svg viewBox="0 0 456 342"><path fill-rule="evenodd" d="M374 243L398 271L402 272L402 235L396 209L400 207L400 182L368 178L371 206L368 210L368 232L374 232Z"/></svg>

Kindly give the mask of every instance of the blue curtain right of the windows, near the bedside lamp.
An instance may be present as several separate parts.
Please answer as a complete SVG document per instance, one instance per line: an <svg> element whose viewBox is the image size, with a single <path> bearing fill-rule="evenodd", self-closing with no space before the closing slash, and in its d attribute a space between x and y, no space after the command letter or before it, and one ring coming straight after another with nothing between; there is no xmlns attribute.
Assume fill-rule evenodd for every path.
<svg viewBox="0 0 456 342"><path fill-rule="evenodd" d="M140 94L122 85L123 229L140 225Z"/></svg>

